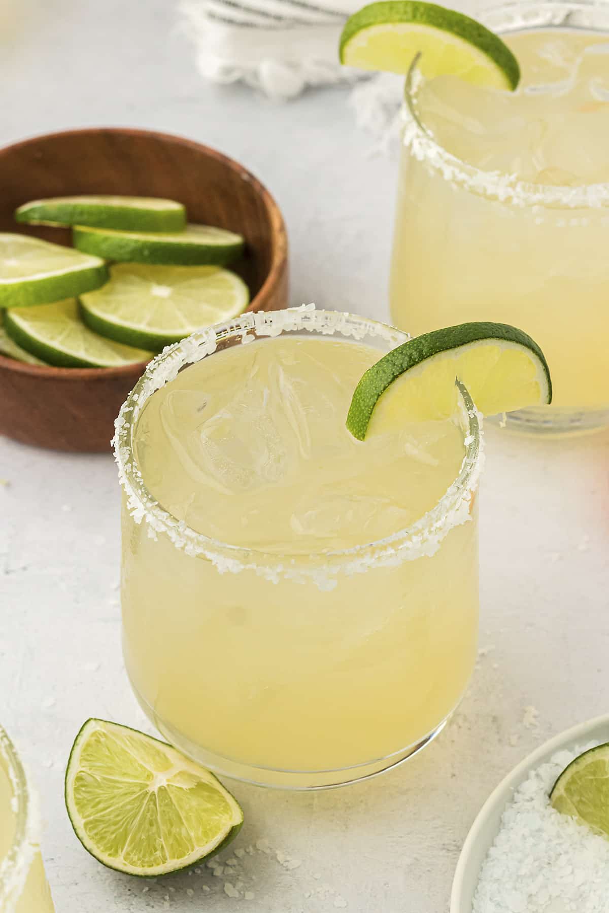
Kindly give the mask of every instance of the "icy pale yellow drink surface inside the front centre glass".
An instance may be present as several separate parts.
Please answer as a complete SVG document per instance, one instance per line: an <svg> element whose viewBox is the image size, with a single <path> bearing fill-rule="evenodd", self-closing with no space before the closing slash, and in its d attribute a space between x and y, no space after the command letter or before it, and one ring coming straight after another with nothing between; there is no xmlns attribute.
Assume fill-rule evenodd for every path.
<svg viewBox="0 0 609 913"><path fill-rule="evenodd" d="M463 431L404 421L355 440L352 392L381 354L282 336L204 358L142 411L144 483L197 532L258 551L336 551L406 529L457 477Z"/></svg>

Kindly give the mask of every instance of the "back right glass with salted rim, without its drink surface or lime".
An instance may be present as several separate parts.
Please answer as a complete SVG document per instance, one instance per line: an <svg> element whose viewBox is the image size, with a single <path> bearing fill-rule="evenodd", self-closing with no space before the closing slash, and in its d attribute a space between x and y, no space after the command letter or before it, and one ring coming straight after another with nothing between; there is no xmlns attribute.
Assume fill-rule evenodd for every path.
<svg viewBox="0 0 609 913"><path fill-rule="evenodd" d="M502 5L481 19L504 37L551 28L609 42L607 4ZM460 161L425 128L422 81L415 63L403 111L394 323L417 334L466 320L515 324L541 344L554 401L512 413L508 424L558 434L609 424L609 184L530 184Z"/></svg>

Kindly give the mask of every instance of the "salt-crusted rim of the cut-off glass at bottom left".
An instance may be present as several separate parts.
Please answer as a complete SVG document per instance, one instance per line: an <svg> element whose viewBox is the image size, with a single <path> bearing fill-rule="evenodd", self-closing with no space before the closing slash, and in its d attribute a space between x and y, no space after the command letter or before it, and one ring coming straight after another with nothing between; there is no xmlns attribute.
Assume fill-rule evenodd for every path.
<svg viewBox="0 0 609 913"><path fill-rule="evenodd" d="M39 817L36 797L30 791L26 771L16 748L0 726L0 757L8 765L8 777L13 786L13 810L16 829L13 845L0 862L0 910L15 913L21 892L34 857L38 852Z"/></svg>

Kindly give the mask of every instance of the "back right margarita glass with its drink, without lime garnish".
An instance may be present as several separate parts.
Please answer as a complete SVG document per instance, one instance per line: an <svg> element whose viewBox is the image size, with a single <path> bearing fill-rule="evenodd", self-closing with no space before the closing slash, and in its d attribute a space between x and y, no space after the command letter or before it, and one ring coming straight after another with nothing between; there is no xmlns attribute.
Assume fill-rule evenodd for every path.
<svg viewBox="0 0 609 913"><path fill-rule="evenodd" d="M456 77L406 83L391 309L419 334L468 320L530 333L550 406L508 416L562 433L609 422L609 6L483 16L519 59L515 93Z"/></svg>

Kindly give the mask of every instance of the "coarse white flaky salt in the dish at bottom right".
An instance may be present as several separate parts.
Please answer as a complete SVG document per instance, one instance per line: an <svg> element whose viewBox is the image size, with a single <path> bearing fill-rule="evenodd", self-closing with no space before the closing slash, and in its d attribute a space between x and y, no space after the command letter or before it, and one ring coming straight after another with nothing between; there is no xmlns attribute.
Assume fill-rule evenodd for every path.
<svg viewBox="0 0 609 913"><path fill-rule="evenodd" d="M584 750L559 751L520 784L480 870L472 913L607 913L609 841L555 812L551 787Z"/></svg>

